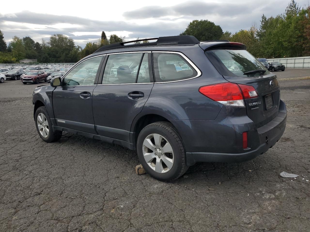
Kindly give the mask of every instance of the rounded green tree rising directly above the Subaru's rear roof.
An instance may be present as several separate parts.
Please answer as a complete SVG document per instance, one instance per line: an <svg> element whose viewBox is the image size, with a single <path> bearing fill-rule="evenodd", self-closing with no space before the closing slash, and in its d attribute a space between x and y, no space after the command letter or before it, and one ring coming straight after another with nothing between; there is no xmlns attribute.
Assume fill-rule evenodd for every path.
<svg viewBox="0 0 310 232"><path fill-rule="evenodd" d="M193 20L180 35L191 35L199 41L218 40L223 35L223 30L219 25L215 25L209 20Z"/></svg>

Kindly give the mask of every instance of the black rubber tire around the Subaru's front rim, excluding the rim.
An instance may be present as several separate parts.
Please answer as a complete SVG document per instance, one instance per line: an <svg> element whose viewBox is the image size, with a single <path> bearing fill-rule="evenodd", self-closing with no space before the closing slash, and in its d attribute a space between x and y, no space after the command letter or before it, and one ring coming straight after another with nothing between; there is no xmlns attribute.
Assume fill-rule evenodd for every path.
<svg viewBox="0 0 310 232"><path fill-rule="evenodd" d="M37 123L37 118L38 118L38 114L39 113L42 113L44 114L44 116L46 117L47 121L48 121L48 125L49 125L49 133L48 133L48 136L46 138L44 138L41 133L39 132L39 129L38 129L38 123ZM37 128L37 131L38 131L38 134L39 136L41 137L41 139L47 143L51 143L51 142L55 142L55 141L58 141L60 140L61 138L61 135L62 135L62 131L54 131L53 129L53 124L52 124L52 121L51 121L51 117L50 115L48 114L47 112L47 109L45 106L41 106L39 107L37 110L36 110L36 114L34 116L35 118L35 124L36 124L36 128Z"/></svg>

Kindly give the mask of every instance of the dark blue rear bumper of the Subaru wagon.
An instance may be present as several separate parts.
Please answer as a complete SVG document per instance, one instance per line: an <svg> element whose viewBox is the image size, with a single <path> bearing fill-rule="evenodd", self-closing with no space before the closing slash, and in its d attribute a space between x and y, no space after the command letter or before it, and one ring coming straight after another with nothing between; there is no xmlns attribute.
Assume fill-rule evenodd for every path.
<svg viewBox="0 0 310 232"><path fill-rule="evenodd" d="M191 125L192 130L199 130L199 126L200 128L209 126L212 131L208 127L203 128L206 131L204 138L201 138L201 132L198 133L200 138L195 138L194 132L191 138L185 136L185 139L183 139L183 131L179 131L187 151L186 160L188 165L193 165L196 162L241 162L265 153L277 143L285 131L286 106L283 101L280 101L277 117L259 128L255 128L254 122L248 117L226 120L225 122L230 123L225 123L225 125L223 120L211 122L213 123L209 121L209 123L205 124L200 121L200 125L197 125L195 124L196 121ZM217 130L214 131L216 128ZM249 148L247 149L242 149L241 136L244 131L248 131Z"/></svg>

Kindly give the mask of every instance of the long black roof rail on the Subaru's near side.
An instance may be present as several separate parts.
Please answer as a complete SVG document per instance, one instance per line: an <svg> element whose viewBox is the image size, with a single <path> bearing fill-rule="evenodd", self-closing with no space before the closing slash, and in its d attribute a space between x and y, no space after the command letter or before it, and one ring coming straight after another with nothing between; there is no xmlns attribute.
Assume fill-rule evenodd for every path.
<svg viewBox="0 0 310 232"><path fill-rule="evenodd" d="M157 40L155 42L148 42L148 43L140 43L140 44L131 44L125 45L128 43L138 42L138 41L145 41L145 40ZM199 44L200 42L194 36L165 36L165 37L158 37L158 38L149 38L149 39L139 39L139 40L132 40L126 41L122 43L115 43L102 46L94 53L102 52L111 49L119 49L119 48L132 48L132 47L145 47L145 46L160 46L160 45L195 45Z"/></svg>

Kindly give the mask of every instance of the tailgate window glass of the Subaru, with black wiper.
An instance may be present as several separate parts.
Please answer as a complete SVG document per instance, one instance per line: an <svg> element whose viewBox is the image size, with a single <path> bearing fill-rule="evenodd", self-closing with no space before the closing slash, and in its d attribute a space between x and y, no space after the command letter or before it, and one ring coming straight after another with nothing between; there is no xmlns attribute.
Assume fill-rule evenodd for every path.
<svg viewBox="0 0 310 232"><path fill-rule="evenodd" d="M224 76L233 77L255 77L262 75L260 72L244 74L248 71L263 69L264 75L270 72L246 50L228 48L213 49L206 51L206 56L210 59L215 68Z"/></svg>

